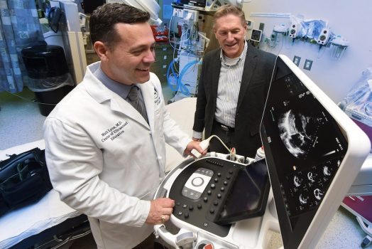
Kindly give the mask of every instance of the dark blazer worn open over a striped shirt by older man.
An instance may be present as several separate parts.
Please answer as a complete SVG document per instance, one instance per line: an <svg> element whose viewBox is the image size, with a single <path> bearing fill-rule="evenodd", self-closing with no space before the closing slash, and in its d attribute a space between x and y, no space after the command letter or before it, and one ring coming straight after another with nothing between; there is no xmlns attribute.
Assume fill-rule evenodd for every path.
<svg viewBox="0 0 372 249"><path fill-rule="evenodd" d="M206 138L212 135L214 113L216 112L217 88L221 69L220 53L221 48L204 55L198 85L197 107L192 129L202 132L205 128ZM258 147L261 147L259 129L275 59L276 56L272 53L261 51L248 42L236 107L235 144L231 144L235 147L236 154L244 157L254 157Z"/></svg>

